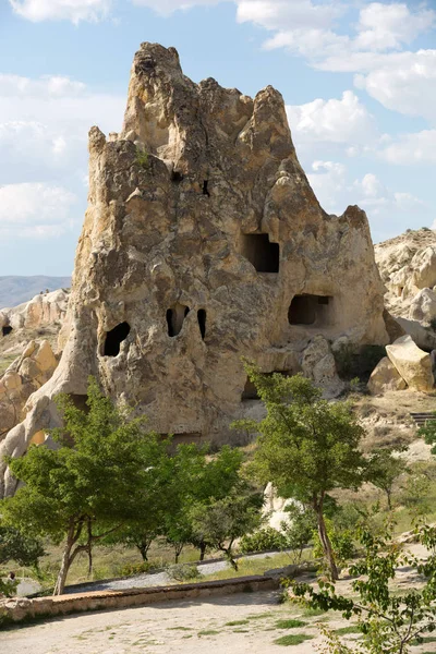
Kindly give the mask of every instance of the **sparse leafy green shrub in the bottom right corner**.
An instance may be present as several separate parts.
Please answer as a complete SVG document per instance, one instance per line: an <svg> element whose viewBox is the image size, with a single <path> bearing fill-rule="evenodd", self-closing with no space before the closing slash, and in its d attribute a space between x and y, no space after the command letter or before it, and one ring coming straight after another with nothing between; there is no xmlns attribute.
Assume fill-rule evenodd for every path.
<svg viewBox="0 0 436 654"><path fill-rule="evenodd" d="M343 617L359 618L363 641L356 650L340 642L327 632L327 652L330 654L408 654L411 646L423 641L426 633L436 630L436 529L423 525L416 529L419 542L428 556L419 559L392 544L391 531L374 536L368 531L361 535L364 557L350 568L358 577L352 582L356 598L336 593L335 584L319 582L319 591L304 583L292 582L293 600L306 600L314 608L338 610ZM424 579L419 589L401 589L395 585L397 571L410 566Z"/></svg>

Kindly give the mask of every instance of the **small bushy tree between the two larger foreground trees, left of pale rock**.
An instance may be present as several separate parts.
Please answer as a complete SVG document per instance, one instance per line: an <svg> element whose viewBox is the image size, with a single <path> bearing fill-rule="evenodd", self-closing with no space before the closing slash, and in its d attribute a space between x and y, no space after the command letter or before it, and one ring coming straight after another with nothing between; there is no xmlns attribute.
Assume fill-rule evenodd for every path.
<svg viewBox="0 0 436 654"><path fill-rule="evenodd" d="M263 504L262 493L240 483L228 496L192 507L194 535L222 552L232 568L238 570L234 541L259 528Z"/></svg>

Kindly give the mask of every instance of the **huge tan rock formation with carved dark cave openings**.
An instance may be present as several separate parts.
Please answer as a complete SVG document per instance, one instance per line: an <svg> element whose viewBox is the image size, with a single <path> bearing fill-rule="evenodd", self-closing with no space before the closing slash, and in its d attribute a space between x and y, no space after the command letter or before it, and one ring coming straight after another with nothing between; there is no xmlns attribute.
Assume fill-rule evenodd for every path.
<svg viewBox="0 0 436 654"><path fill-rule="evenodd" d="M365 214L320 208L281 95L194 84L173 48L143 44L122 133L89 133L62 360L2 453L57 424L58 392L82 402L88 375L159 433L234 440L258 408L241 356L339 388L330 344L388 342L383 292Z"/></svg>

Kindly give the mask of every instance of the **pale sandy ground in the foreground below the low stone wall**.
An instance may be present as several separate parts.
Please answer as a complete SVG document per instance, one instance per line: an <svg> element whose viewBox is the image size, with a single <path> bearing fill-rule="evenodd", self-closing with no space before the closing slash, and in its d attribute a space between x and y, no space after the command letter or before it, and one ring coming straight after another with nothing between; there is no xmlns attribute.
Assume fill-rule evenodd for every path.
<svg viewBox="0 0 436 654"><path fill-rule="evenodd" d="M320 642L316 627L320 618L303 618L307 622L303 627L279 629L277 621L295 617L298 610L278 604L277 597L277 592L241 593L71 616L3 631L0 651L2 654L265 654L282 651L282 646L274 643L276 639L305 633L314 639L291 651L314 654L314 645Z"/></svg>

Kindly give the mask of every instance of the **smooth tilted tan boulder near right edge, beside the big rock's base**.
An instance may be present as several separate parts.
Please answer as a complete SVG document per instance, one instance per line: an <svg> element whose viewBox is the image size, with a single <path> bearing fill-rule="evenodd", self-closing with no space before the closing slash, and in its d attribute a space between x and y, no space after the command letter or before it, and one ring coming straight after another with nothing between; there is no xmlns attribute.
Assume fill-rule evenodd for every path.
<svg viewBox="0 0 436 654"><path fill-rule="evenodd" d="M387 346L386 352L410 388L423 391L433 389L429 354L420 350L410 336L402 336Z"/></svg>

